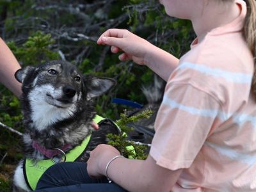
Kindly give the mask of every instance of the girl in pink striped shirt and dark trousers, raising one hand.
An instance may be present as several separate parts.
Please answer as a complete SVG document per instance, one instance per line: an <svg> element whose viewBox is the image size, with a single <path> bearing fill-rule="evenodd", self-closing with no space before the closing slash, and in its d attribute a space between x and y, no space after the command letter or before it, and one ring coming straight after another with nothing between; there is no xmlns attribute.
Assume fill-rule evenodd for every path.
<svg viewBox="0 0 256 192"><path fill-rule="evenodd" d="M115 148L99 145L90 154L88 175L109 177L128 191L255 191L256 2L161 3L168 15L193 24L197 38L180 60L124 29L109 29L97 42L111 45L114 53L122 51L120 60L147 65L167 81L150 154L145 161L125 159ZM85 169L84 164L77 165L78 170L79 166ZM72 177L70 164L58 167L67 171L61 180ZM38 188L67 185L56 182L60 179L54 172L60 168L50 168ZM96 185L102 191L104 186L116 186ZM88 186L49 191L79 191ZM122 189L112 191L118 190Z"/></svg>

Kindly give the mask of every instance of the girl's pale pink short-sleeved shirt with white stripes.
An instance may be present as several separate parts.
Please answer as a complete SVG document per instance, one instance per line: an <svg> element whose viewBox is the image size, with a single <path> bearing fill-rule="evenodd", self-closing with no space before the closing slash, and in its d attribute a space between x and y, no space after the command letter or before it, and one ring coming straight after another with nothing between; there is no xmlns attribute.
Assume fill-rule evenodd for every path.
<svg viewBox="0 0 256 192"><path fill-rule="evenodd" d="M183 168L173 191L256 191L253 58L239 17L191 44L166 84L150 156Z"/></svg>

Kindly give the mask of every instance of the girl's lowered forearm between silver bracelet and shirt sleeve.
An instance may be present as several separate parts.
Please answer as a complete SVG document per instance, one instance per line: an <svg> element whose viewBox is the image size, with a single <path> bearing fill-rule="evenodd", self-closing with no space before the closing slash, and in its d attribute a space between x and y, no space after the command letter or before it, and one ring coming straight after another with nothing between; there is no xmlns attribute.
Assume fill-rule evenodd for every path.
<svg viewBox="0 0 256 192"><path fill-rule="evenodd" d="M182 170L168 170L151 157L145 161L115 159L109 165L108 176L128 191L172 191Z"/></svg>

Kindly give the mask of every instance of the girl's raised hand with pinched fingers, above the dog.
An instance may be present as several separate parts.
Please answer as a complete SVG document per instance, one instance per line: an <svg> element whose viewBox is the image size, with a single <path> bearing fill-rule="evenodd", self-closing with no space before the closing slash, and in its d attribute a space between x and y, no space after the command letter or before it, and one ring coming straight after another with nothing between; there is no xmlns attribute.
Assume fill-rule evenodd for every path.
<svg viewBox="0 0 256 192"><path fill-rule="evenodd" d="M110 45L111 52L123 51L119 60L133 60L139 65L145 64L145 58L152 44L126 29L108 29L97 40L97 44Z"/></svg>

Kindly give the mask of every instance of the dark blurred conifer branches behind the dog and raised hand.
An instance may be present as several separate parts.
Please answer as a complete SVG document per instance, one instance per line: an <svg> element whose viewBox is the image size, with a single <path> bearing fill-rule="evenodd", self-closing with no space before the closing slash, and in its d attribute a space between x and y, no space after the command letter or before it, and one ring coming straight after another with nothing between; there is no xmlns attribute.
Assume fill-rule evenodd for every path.
<svg viewBox="0 0 256 192"><path fill-rule="evenodd" d="M121 62L97 38L109 28L132 31L178 58L195 36L187 20L168 17L154 0L0 0L0 36L22 67L67 60L84 73L112 77L116 87L97 99L97 113L118 119L127 106L115 97L147 104L141 86L154 74L132 61ZM0 86L0 122L22 132L19 99ZM20 136L0 127L0 191L10 191L12 170L22 158Z"/></svg>

